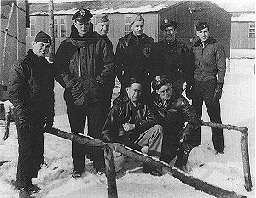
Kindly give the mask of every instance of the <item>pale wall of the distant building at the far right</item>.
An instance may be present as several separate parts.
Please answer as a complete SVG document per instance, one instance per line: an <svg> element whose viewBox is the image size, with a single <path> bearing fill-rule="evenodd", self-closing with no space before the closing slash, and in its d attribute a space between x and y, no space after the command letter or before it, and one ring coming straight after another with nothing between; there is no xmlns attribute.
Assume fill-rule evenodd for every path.
<svg viewBox="0 0 256 198"><path fill-rule="evenodd" d="M255 37L248 37L248 22L232 22L231 48L255 49Z"/></svg>

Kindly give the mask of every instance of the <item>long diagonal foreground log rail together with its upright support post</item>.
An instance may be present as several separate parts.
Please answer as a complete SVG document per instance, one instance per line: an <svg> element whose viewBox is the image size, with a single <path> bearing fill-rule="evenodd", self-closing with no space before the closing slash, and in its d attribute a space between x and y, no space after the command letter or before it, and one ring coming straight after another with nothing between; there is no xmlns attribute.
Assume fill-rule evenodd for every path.
<svg viewBox="0 0 256 198"><path fill-rule="evenodd" d="M104 154L105 154L105 164L106 164L106 177L108 182L108 197L109 198L117 198L117 187L116 187L116 173L114 168L114 159L113 159L113 150L108 147L108 144L102 142L99 139L93 139L90 136L85 136L81 133L68 133L62 131L57 128L52 128L47 133L59 136L64 139L69 139L71 141L75 141L80 144L86 144L89 146L102 146L104 147ZM125 156L131 157L136 159L137 161L148 163L153 167L163 168L163 171L166 173L171 173L173 177L179 179L184 184L189 184L190 186L194 187L196 190L201 190L209 195L213 195L215 197L222 197L222 198L245 198L246 196L237 195L233 191L228 191L216 187L212 184L207 184L207 182L203 182L198 178L194 178L189 176L189 174L180 171L176 167L170 167L163 161L155 159L154 157L145 155L137 150L132 150L131 148L123 145L123 144L113 144L114 150L123 153Z"/></svg>

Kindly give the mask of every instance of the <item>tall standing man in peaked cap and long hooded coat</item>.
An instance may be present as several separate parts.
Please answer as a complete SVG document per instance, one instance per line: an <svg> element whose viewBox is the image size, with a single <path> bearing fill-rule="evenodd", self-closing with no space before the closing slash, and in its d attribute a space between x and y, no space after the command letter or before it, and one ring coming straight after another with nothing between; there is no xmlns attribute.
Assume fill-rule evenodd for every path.
<svg viewBox="0 0 256 198"><path fill-rule="evenodd" d="M55 56L55 66L65 82L64 99L72 132L84 133L88 118L88 133L102 139L104 117L102 93L109 76L113 76L113 52L104 39L95 37L90 19L92 14L81 9L73 15L74 23L69 38L61 42ZM85 170L86 147L72 143L73 177ZM105 171L102 148L93 148L96 173Z"/></svg>

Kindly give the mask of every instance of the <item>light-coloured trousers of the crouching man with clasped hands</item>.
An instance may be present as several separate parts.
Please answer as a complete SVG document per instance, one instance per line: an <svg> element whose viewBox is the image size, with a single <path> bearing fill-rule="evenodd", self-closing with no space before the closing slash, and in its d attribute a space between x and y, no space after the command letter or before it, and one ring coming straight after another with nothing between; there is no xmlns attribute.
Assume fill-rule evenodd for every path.
<svg viewBox="0 0 256 198"><path fill-rule="evenodd" d="M148 146L149 156L160 156L162 150L163 141L163 127L160 125L154 125L144 133L140 134L134 144L140 147Z"/></svg>

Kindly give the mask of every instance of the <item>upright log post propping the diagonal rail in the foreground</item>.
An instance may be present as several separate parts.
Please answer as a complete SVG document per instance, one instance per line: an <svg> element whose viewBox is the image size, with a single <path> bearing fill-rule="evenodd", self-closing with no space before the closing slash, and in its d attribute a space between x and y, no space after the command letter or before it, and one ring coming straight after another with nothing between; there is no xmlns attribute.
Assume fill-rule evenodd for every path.
<svg viewBox="0 0 256 198"><path fill-rule="evenodd" d="M115 167L113 159L113 150L106 145L104 147L105 165L106 165L106 177L108 182L108 197L118 198L116 180L115 180Z"/></svg>

